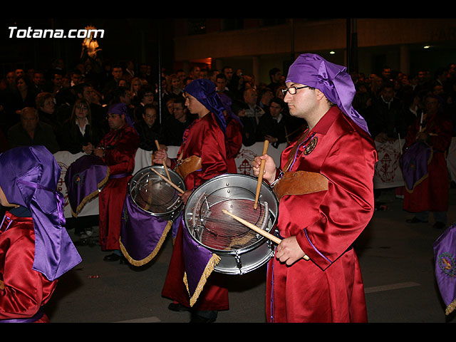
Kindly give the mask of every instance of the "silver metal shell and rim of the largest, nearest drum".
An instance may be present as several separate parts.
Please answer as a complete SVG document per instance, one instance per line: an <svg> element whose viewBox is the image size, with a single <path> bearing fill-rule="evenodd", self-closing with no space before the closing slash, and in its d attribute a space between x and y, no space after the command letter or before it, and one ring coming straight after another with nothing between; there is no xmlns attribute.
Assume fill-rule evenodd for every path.
<svg viewBox="0 0 456 342"><path fill-rule="evenodd" d="M209 249L220 257L220 261L214 267L214 271L222 274L246 274L254 271L271 259L274 255L274 245L266 237L259 237L258 241L254 242L254 244L239 249L222 250L204 246L192 232L192 208L197 202L197 198L204 192L210 193L212 190L220 190L224 187L227 189L229 187L245 187L254 194L257 190L257 182L256 177L249 175L219 175L204 182L187 199L184 209L185 228L197 244ZM274 192L272 192L271 187L265 182L261 183L259 201L268 203L269 220L265 230L272 234L276 229L277 219L279 217L279 201Z"/></svg>

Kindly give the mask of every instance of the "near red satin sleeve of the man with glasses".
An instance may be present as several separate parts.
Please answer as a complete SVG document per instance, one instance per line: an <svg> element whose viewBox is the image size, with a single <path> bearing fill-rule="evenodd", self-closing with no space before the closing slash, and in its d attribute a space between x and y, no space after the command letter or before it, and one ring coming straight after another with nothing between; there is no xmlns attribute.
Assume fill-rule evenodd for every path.
<svg viewBox="0 0 456 342"><path fill-rule="evenodd" d="M353 151L363 157L353 157ZM343 135L321 165L321 174L328 178L328 190L301 195L301 205L319 205L314 222L304 229L296 227L296 239L321 269L346 252L371 219L376 160L376 151L366 140L354 133ZM299 226L299 219L295 221Z"/></svg>

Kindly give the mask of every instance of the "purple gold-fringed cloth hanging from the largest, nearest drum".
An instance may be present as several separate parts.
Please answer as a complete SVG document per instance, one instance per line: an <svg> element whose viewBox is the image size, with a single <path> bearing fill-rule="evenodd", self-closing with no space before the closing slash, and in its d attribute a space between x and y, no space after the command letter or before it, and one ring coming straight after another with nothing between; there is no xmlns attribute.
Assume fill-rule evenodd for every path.
<svg viewBox="0 0 456 342"><path fill-rule="evenodd" d="M190 233L185 228L182 219L183 229L183 253L185 261L184 283L190 294L190 306L193 306L201 293L207 278L214 271L214 267L219 263L220 258L195 242Z"/></svg>

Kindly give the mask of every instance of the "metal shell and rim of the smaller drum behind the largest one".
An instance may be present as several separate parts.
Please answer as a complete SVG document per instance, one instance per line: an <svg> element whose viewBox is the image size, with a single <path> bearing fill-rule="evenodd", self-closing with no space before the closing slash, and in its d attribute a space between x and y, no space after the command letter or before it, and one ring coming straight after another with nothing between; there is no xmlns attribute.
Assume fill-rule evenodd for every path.
<svg viewBox="0 0 456 342"><path fill-rule="evenodd" d="M135 206L142 209L143 211L148 212L149 214L151 214L154 217L159 217L160 219L166 219L166 220L172 221L177 216L179 216L180 213L182 212L182 210L184 209L184 204L183 204L182 200L180 200L180 197L176 201L176 204L172 206L172 208L170 208L169 210L163 211L163 212L154 212L150 209L145 209L144 207L139 205L138 202L135 200L135 187L137 187L138 184L140 184L140 180L142 180L142 177L149 176L153 180L160 180L160 181L162 181L162 185L164 185L165 187L172 188L171 185L167 184L167 182L165 182L165 180L162 180L161 177L159 175L155 174L155 172L153 172L151 169L154 169L155 171L160 173L160 175L167 177L167 172L165 170L165 167L162 165L152 165L152 166L148 166L148 167L143 167L141 170L136 172L135 175L133 175L133 177L131 177L130 182L128 182L128 196L130 196L133 199L133 203L135 204ZM177 187L180 187L180 189L185 191L186 190L185 182L182 179L182 177L180 177L180 175L178 175L177 172L170 170L169 168L167 169L167 171L168 171L168 174L170 175L172 182L175 185L177 185ZM174 191L176 191L176 190L174 190Z"/></svg>

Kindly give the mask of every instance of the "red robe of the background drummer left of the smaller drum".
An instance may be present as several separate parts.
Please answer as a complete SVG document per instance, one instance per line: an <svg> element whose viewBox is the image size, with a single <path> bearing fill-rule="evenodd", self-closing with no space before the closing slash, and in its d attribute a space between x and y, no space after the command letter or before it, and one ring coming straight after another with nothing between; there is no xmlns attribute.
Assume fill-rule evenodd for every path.
<svg viewBox="0 0 456 342"><path fill-rule="evenodd" d="M110 179L98 195L100 211L100 246L103 251L120 249L120 224L128 182L135 168L135 153L140 138L128 125L113 130L101 140L105 147L103 161L108 165ZM118 177L118 178L117 178Z"/></svg>

